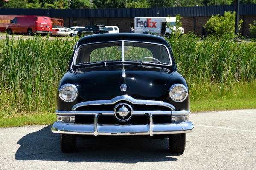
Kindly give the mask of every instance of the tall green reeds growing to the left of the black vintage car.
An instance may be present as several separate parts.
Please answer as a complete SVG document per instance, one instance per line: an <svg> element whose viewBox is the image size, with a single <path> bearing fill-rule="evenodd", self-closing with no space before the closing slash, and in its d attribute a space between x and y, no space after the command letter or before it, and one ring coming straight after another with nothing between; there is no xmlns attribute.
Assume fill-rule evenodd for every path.
<svg viewBox="0 0 256 170"><path fill-rule="evenodd" d="M40 36L0 41L0 115L54 111L75 42Z"/></svg>

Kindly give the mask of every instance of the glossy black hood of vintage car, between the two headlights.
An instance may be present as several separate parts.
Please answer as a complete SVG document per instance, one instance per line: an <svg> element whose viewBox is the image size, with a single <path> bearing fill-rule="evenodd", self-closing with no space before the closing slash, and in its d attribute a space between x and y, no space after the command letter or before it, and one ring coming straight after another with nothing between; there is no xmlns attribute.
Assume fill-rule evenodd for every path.
<svg viewBox="0 0 256 170"><path fill-rule="evenodd" d="M82 86L80 96L86 101L121 95L159 100L171 72L166 68L119 64L79 68L75 74ZM126 91L121 91L122 84L127 85Z"/></svg>

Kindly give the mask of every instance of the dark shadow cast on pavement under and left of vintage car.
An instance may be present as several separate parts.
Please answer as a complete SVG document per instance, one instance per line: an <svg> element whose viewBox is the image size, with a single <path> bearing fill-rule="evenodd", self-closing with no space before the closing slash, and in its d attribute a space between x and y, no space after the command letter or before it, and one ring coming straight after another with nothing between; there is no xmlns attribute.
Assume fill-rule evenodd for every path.
<svg viewBox="0 0 256 170"><path fill-rule="evenodd" d="M158 162L176 161L169 153L168 140L148 139L137 136L101 136L77 140L74 153L62 153L60 135L51 132L51 125L23 136L17 144L17 160L51 160L68 162Z"/></svg>

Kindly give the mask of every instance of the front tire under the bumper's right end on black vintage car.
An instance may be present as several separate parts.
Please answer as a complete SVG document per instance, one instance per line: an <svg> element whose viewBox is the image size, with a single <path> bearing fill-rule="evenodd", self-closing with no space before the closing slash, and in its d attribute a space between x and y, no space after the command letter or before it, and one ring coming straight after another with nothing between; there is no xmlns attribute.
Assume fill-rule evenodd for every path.
<svg viewBox="0 0 256 170"><path fill-rule="evenodd" d="M186 146L186 133L172 134L169 136L169 150L171 153L182 154Z"/></svg>

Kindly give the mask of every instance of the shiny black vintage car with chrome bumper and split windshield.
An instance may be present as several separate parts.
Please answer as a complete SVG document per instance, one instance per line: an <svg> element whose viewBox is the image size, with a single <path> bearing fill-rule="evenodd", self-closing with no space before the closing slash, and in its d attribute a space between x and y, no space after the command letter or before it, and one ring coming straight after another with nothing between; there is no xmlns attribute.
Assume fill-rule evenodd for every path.
<svg viewBox="0 0 256 170"><path fill-rule="evenodd" d="M61 150L76 149L78 136L140 135L169 138L183 153L189 121L189 91L163 37L120 33L81 38L58 88Z"/></svg>

